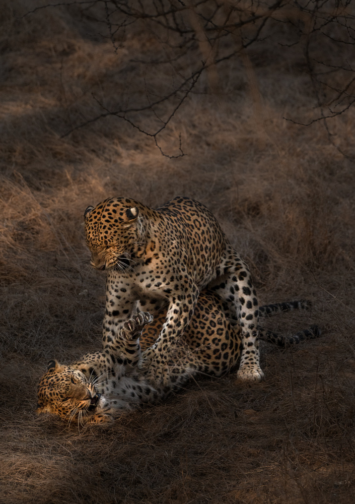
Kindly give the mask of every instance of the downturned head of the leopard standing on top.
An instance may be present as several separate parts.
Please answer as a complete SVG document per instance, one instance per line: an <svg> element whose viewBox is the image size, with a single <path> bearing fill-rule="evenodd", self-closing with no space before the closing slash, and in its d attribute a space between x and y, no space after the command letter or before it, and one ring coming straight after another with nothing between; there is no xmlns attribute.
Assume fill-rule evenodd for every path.
<svg viewBox="0 0 355 504"><path fill-rule="evenodd" d="M91 265L98 270L123 271L131 267L131 254L140 241L137 202L108 198L84 212L86 243Z"/></svg>

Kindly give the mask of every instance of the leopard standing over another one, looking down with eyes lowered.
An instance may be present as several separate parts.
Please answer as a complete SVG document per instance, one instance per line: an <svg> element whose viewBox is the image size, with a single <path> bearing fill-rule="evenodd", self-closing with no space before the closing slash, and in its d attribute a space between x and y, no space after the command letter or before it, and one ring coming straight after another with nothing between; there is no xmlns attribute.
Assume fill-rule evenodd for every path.
<svg viewBox="0 0 355 504"><path fill-rule="evenodd" d="M103 348L136 309L166 319L145 362L152 384L169 383L170 354L187 330L199 293L218 294L243 341L238 378L261 381L259 308L250 270L215 216L198 201L177 196L153 209L110 197L84 212L91 265L106 271ZM159 359L157 358L159 355Z"/></svg>

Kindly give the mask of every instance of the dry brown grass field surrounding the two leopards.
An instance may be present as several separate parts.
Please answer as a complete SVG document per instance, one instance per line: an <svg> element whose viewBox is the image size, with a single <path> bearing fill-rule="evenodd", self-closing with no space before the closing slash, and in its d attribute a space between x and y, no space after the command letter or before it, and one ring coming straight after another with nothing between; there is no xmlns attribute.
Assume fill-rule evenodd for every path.
<svg viewBox="0 0 355 504"><path fill-rule="evenodd" d="M1 504L353 503L354 110L328 121L331 136L283 119L307 122L317 103L302 53L266 40L201 76L159 136L173 156L181 135L183 157L117 117L61 138L102 113L93 95L139 104L145 79L159 94L171 76L134 63L159 54L154 33L132 28L115 52L75 7L22 17L44 4L0 9ZM261 303L312 300L268 325L316 323L322 337L263 345L261 384L193 382L111 428L36 417L47 361L100 347L105 274L88 264L83 212L111 195L201 201Z"/></svg>

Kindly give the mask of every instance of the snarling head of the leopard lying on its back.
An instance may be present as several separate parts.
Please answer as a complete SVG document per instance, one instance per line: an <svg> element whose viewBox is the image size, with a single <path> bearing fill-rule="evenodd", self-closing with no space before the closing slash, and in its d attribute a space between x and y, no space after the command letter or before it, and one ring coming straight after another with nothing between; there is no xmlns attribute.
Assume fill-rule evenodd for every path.
<svg viewBox="0 0 355 504"><path fill-rule="evenodd" d="M36 413L52 413L71 421L86 421L100 413L108 401L98 394L84 373L50 360L37 389Z"/></svg>

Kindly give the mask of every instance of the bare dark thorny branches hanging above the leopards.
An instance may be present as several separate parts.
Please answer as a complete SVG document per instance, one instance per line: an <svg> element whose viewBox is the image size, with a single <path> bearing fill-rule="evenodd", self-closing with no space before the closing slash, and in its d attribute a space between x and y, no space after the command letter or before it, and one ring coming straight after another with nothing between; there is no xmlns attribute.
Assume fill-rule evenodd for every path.
<svg viewBox="0 0 355 504"><path fill-rule="evenodd" d="M115 52L124 47L127 37L136 36L142 30L150 33L159 43L159 54L153 52L147 58L132 57L129 61L132 65L144 65L151 74L156 65L169 66L173 89L169 85L165 91L148 92L144 79L140 92L145 102L134 107L122 102L111 109L94 97L103 112L77 124L62 138L97 120L116 116L152 137L166 155L157 137L176 117L201 75L207 72L210 91L220 92L217 67L239 58L241 50L260 44L265 38L283 48L285 57L288 50L299 48L320 111L311 120L286 120L307 126L341 115L355 102L352 54L355 9L351 0L250 0L248 3L239 0L75 0L41 5L22 17L34 16L42 9L63 7L85 14L97 26L96 33L111 41ZM158 99L151 100L150 96ZM324 109L328 112L323 113ZM153 130L152 121L153 124L160 122ZM181 137L179 150L179 156L183 155Z"/></svg>

